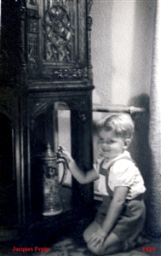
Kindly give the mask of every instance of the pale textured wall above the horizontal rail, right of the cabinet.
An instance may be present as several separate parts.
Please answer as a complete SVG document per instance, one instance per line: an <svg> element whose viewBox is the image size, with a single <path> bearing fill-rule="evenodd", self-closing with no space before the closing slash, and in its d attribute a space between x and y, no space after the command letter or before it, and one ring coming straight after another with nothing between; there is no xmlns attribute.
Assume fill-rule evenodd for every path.
<svg viewBox="0 0 161 256"><path fill-rule="evenodd" d="M129 106L149 95L155 1L94 0L90 15L93 102Z"/></svg>

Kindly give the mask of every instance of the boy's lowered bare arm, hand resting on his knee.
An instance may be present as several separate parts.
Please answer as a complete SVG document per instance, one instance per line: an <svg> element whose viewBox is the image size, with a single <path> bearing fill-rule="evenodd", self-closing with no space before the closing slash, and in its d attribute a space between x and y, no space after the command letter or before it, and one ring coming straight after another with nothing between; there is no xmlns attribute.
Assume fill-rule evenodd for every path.
<svg viewBox="0 0 161 256"><path fill-rule="evenodd" d="M112 202L106 213L106 218L101 225L101 228L95 232L90 238L89 243L96 246L99 242L104 241L106 236L112 231L114 224L116 224L120 213L124 207L128 187L116 187L114 190Z"/></svg>

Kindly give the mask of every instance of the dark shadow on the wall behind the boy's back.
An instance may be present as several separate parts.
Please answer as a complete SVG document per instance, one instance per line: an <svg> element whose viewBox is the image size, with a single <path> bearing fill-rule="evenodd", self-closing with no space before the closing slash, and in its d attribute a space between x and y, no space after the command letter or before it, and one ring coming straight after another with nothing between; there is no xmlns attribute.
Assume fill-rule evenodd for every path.
<svg viewBox="0 0 161 256"><path fill-rule="evenodd" d="M147 188L145 195L146 207L149 207L149 195L151 194L152 181L152 154L149 146L149 112L150 99L147 94L141 94L131 98L129 105L137 108L145 108L145 113L134 113L132 118L135 122L135 137L129 151L137 163ZM146 226L147 228L147 226ZM147 234L148 234L148 230Z"/></svg>

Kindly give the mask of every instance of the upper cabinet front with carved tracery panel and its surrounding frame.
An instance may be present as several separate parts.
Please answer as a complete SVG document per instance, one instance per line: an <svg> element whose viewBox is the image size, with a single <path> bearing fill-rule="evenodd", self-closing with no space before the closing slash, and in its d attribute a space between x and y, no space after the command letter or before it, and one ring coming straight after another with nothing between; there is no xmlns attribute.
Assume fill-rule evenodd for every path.
<svg viewBox="0 0 161 256"><path fill-rule="evenodd" d="M78 80L88 74L86 0L27 1L32 79Z"/></svg>

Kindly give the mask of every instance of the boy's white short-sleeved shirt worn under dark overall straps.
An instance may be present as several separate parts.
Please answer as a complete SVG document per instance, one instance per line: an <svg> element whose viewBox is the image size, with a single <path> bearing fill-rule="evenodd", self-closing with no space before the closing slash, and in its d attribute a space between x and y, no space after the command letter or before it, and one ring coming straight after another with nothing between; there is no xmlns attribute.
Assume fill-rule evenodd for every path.
<svg viewBox="0 0 161 256"><path fill-rule="evenodd" d="M112 164L109 169L108 176L108 186L114 191L115 187L125 186L129 187L128 195L126 199L131 200L137 195L143 194L146 191L141 172L135 166L135 163L132 160L121 159L123 157L130 157L128 151L124 151L123 154L119 154L116 158L112 160L103 160L99 158L94 164L96 172L100 172L100 167L107 170L111 166L114 160L117 160ZM103 160L103 164L101 166ZM106 177L100 173L100 178L98 181L98 189L101 195L108 195L106 191Z"/></svg>

